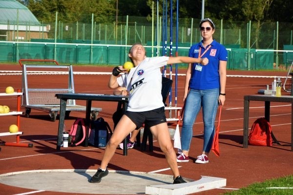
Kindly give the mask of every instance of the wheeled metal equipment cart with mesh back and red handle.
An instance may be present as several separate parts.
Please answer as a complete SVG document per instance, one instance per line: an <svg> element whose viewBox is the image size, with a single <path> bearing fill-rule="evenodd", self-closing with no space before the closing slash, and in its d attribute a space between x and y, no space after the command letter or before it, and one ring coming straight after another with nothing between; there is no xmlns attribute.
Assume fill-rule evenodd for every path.
<svg viewBox="0 0 293 195"><path fill-rule="evenodd" d="M23 62L29 62L23 63ZM38 61L39 63L36 63ZM34 64L32 64L34 62ZM25 117L29 117L31 109L49 113L52 121L56 120L60 112L60 99L56 94L74 94L74 81L72 65L59 65L55 60L20 59L22 66L22 104L25 108ZM42 70L42 71L40 71ZM53 75L51 80L44 80L42 75ZM67 77L68 81L64 81ZM32 82L33 81L33 82ZM49 82L50 84L47 84ZM45 88L43 87L45 86ZM49 88L50 87L50 88ZM85 111L86 107L76 105L74 99L68 99L65 117L71 111ZM96 120L102 108L91 108L91 119Z"/></svg>

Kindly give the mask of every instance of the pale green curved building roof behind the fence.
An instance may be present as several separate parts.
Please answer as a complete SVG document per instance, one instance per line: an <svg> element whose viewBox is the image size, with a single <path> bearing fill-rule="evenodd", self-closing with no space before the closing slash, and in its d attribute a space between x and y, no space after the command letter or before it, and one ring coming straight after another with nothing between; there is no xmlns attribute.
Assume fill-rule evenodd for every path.
<svg viewBox="0 0 293 195"><path fill-rule="evenodd" d="M0 24L40 25L33 13L16 0L0 0Z"/></svg>

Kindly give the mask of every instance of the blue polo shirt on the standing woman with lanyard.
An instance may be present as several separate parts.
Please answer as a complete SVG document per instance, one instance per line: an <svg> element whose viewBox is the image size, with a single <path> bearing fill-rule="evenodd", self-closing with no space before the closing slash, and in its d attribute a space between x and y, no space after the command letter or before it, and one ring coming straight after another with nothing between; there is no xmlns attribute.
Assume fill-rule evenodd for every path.
<svg viewBox="0 0 293 195"><path fill-rule="evenodd" d="M201 58L209 59L209 63L207 65L201 65L198 63L191 64L192 70L189 82L190 89L206 90L220 88L219 62L220 60L227 61L228 52L226 48L217 41L213 40L210 47L207 46L205 49L202 46L201 41L190 47L188 56L198 58L199 52L200 55L204 54ZM200 67L196 68L196 65Z"/></svg>

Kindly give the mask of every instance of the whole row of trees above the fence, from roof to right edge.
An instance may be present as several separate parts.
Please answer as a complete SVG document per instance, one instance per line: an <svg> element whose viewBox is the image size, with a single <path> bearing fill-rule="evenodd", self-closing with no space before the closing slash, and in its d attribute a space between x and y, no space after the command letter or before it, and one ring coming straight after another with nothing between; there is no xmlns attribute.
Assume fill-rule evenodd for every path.
<svg viewBox="0 0 293 195"><path fill-rule="evenodd" d="M116 15L117 0L19 0L40 21L52 22L56 12L63 22L109 21ZM163 14L163 2L159 0L159 15ZM176 17L176 2L173 0L173 17ZM157 0L118 0L118 16L151 17ZM170 0L167 0L169 7ZM201 18L202 0L179 0L179 18ZM293 21L293 0L205 0L205 17L230 21ZM169 9L168 9L169 10ZM167 13L169 15L169 12Z"/></svg>

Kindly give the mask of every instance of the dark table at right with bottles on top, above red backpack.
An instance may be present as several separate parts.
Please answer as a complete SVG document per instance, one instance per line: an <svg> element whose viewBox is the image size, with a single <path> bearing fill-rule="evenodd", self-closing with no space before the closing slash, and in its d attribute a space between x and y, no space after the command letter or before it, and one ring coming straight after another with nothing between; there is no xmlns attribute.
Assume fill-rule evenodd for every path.
<svg viewBox="0 0 293 195"><path fill-rule="evenodd" d="M291 151L293 151L293 96L244 96L244 120L243 120L243 148L248 147L248 121L249 121L249 103L250 101L265 102L265 118L270 121L270 104L271 102L288 102L291 103Z"/></svg>

